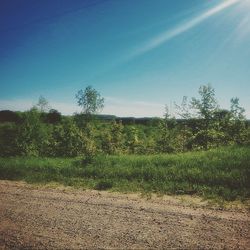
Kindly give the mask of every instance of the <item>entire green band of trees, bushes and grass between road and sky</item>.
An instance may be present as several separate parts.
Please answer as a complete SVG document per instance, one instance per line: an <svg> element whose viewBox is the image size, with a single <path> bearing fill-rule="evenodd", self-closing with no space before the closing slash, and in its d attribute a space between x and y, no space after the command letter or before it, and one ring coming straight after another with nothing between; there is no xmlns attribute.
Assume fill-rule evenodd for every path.
<svg viewBox="0 0 250 250"><path fill-rule="evenodd" d="M221 109L210 85L184 97L177 119L98 119L104 99L78 91L81 114L62 116L40 97L0 112L0 178L120 191L249 198L250 126L238 98Z"/></svg>

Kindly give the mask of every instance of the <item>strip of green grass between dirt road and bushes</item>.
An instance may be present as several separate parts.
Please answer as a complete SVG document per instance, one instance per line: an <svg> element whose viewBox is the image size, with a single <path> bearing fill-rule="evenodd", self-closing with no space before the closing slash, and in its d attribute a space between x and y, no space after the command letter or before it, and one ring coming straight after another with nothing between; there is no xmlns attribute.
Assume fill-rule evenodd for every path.
<svg viewBox="0 0 250 250"><path fill-rule="evenodd" d="M250 198L250 148L225 147L169 155L80 158L0 158L0 179L58 182L98 190Z"/></svg>

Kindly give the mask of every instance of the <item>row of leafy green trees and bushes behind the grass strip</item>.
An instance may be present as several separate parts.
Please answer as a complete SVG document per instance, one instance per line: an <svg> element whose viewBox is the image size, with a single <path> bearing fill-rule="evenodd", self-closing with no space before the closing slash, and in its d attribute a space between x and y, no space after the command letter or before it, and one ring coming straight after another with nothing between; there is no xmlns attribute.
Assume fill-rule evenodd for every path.
<svg viewBox="0 0 250 250"><path fill-rule="evenodd" d="M210 85L199 88L199 98L183 97L178 117L168 107L163 119L128 124L111 116L97 119L104 98L91 86L76 94L80 114L62 116L44 97L26 112L0 112L1 156L84 156L97 154L159 154L208 150L250 144L250 126L238 98L221 109Z"/></svg>

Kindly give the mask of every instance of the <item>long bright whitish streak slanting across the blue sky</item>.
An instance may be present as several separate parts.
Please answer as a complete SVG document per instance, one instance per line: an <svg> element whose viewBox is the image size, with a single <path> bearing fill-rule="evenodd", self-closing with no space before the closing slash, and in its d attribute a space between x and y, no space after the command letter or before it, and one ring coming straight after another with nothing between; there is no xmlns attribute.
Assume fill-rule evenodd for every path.
<svg viewBox="0 0 250 250"><path fill-rule="evenodd" d="M169 29L162 34L154 37L150 41L148 41L144 46L138 48L134 52L132 52L127 59L134 58L136 56L142 55L150 50L153 50L160 45L166 43L167 41L171 40L172 38L181 35L182 33L194 28L198 24L202 23L204 20L208 19L209 17L221 12L222 10L239 3L240 0L224 0L223 3L207 10L206 12L202 13L201 15L189 20L188 22L179 25L173 29Z"/></svg>

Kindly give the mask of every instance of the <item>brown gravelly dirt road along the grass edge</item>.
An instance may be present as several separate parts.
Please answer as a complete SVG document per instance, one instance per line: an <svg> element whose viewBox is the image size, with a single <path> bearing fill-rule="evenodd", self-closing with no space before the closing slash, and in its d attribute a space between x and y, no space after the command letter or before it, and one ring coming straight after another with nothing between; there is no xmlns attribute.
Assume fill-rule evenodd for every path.
<svg viewBox="0 0 250 250"><path fill-rule="evenodd" d="M0 181L0 249L250 249L247 212Z"/></svg>

